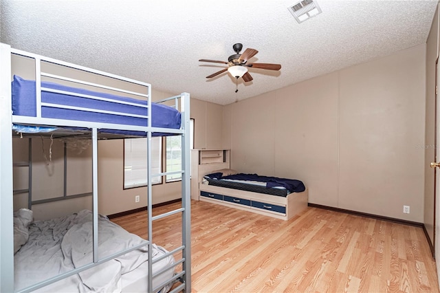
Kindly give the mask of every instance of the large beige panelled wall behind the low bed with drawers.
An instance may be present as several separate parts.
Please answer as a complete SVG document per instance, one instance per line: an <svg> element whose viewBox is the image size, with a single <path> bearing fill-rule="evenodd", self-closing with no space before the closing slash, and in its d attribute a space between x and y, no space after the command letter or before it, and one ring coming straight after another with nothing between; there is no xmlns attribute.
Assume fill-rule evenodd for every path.
<svg viewBox="0 0 440 293"><path fill-rule="evenodd" d="M232 168L303 180L314 204L423 222L425 51L225 106Z"/></svg>

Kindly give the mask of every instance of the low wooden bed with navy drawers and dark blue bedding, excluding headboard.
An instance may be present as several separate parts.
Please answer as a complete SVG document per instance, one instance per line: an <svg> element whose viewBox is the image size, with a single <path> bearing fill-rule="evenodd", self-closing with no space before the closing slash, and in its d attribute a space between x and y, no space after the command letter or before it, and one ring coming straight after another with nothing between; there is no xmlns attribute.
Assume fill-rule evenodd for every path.
<svg viewBox="0 0 440 293"><path fill-rule="evenodd" d="M280 177L237 173L230 169L203 176L202 201L288 220L307 208L303 182Z"/></svg>

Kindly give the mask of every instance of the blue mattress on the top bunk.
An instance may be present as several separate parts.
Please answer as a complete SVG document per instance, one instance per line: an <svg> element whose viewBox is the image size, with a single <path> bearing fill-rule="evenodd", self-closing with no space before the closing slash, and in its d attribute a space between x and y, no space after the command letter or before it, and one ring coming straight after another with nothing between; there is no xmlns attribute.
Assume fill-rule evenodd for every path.
<svg viewBox="0 0 440 293"><path fill-rule="evenodd" d="M81 107L83 109L63 109L57 107L43 106L41 107L41 116L43 118L56 118L63 120L80 120L90 122L103 122L112 124L126 124L135 126L147 126L148 118L130 117L124 115L115 115L113 113L96 113L93 110L116 111L128 114L147 116L148 109L146 100L137 100L135 98L127 98L116 96L113 94L104 94L97 91L80 89L76 87L67 87L57 83L41 82L41 87L57 89L62 91L70 91L76 94L89 96L98 96L116 101L131 102L135 105L124 105L118 102L108 100L94 100L74 94L57 94L50 91L41 91L41 102L47 102L57 105L67 105ZM14 116L36 116L36 87L35 80L25 80L19 76L14 76L12 81L12 113ZM139 105L139 106L137 106ZM181 124L180 112L177 109L151 103L151 124L153 127L162 127L170 129L179 129ZM123 133L123 131L114 131ZM131 131L137 132L137 131ZM133 133L134 134L134 133Z"/></svg>

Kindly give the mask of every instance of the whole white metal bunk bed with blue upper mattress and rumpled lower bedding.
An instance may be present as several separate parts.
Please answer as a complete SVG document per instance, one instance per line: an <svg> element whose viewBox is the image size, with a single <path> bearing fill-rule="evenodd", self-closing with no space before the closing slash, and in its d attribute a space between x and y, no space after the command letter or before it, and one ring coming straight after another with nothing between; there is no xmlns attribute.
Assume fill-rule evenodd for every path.
<svg viewBox="0 0 440 293"><path fill-rule="evenodd" d="M34 79L26 79L21 76L11 76L12 55L23 56L32 59L34 63ZM47 66L50 65L50 66ZM45 72L42 67L51 68L65 67L68 70L76 70L85 73L93 82L60 74L58 69L54 72ZM101 77L107 80L115 80L116 85L128 83L134 87L146 89L134 91L115 87L107 83L100 83ZM12 80L12 83L11 83ZM54 80L56 82L54 82ZM72 86L74 85L74 86ZM115 94L116 93L116 94ZM174 102L174 107L168 104ZM164 102L167 105L162 105ZM137 80L116 76L46 58L21 50L14 50L10 45L0 43L0 291L1 292L32 292L39 291L72 291L76 286L78 291L129 291L140 292L164 292L173 283L173 292L190 292L190 100L189 94L182 93L178 96L151 102L151 85ZM179 111L177 110L179 109ZM56 220L63 228L55 228L52 219L48 221L36 221L31 223L30 217L19 217L23 214L13 210L13 183L12 183L12 130L19 135L38 133L39 135L52 136L80 136L91 138L92 145L92 208L81 210L74 215L66 215L63 219ZM98 139L112 138L147 138L147 157L151 158L151 138L153 136L180 135L182 140L182 168L181 171L181 208L162 215L152 214L153 188L148 184L147 188L147 213L148 213L148 240L140 239L135 235L129 235L119 226L112 224L106 217L98 214ZM168 173L152 174L151 160L148 162L148 182L151 177L167 175ZM32 203L32 199L30 199ZM31 204L29 206L32 208ZM28 210L32 213L32 210ZM153 221L170 215L181 213L181 246L168 252L153 243ZM68 223L68 224L66 224ZM23 224L23 225L21 225ZM52 226L51 226L52 225ZM68 229L66 228L68 226ZM55 246L60 246L72 258L72 263L66 270L55 276L41 276L30 280L28 276L36 274L38 268L34 252L29 250L32 243L50 241L40 240L42 230L50 226L50 239L58 239ZM71 230L75 228L74 230ZM64 231L61 236L55 237L54 230ZM21 236L17 237L17 233ZM26 233L28 232L28 235ZM24 235L24 236L23 236ZM82 242L87 246L78 246L77 238L88 235ZM113 246L109 235L124 235L129 237L128 243ZM21 239L14 247L14 236ZM121 236L122 237L122 236ZM3 239L11 239L4 241ZM67 241L69 239L69 241ZM34 241L30 244L28 241ZM63 245L64 243L64 245ZM58 249L57 248L57 249ZM69 249L67 249L69 248ZM53 248L49 248L51 250ZM51 250L52 251L52 250ZM87 251L87 254L86 254ZM17 252L14 257L14 252ZM78 253L80 255L78 256ZM59 249L55 254L60 253ZM181 259L175 260L173 255L181 253ZM116 287L108 285L115 282L115 278L109 278L109 282L101 281L107 277L105 272L112 269L103 269L113 265L115 261L124 263L127 256L135 254L134 263L127 266L142 270L144 277L128 276L126 285L121 287L120 282ZM86 257L87 255L87 257ZM24 263L25 259L31 259ZM142 261L140 261L142 259ZM17 262L18 261L18 262ZM14 263L15 262L15 263ZM50 261L48 261L50 262ZM67 265L68 267L68 265ZM25 270L24 275L17 275L16 268ZM177 268L181 268L177 271ZM171 272L171 273L170 273ZM164 277L165 276L165 277ZM91 283L84 283L87 279ZM157 281L159 279L159 281ZM78 287L81 280L84 287ZM144 287L138 287L140 283ZM98 283L98 284L96 284ZM25 284L25 285L14 285ZM106 287L109 286L109 287Z"/></svg>

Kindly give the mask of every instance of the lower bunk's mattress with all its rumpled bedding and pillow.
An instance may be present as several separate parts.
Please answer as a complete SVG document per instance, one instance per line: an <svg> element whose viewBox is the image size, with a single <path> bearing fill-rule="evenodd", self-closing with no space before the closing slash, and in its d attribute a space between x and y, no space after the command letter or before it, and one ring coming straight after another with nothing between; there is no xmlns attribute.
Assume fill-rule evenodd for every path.
<svg viewBox="0 0 440 293"><path fill-rule="evenodd" d="M14 213L15 290L45 281L93 262L93 221L90 210L58 219L32 221L32 210ZM126 248L145 243L107 217L98 220L98 257L102 259ZM167 251L153 244L153 259ZM173 256L153 264L158 272L175 263ZM153 287L174 274L170 268L153 279ZM47 285L38 292L151 292L148 290L148 246L127 252L93 268ZM168 292L172 284L156 292Z"/></svg>

